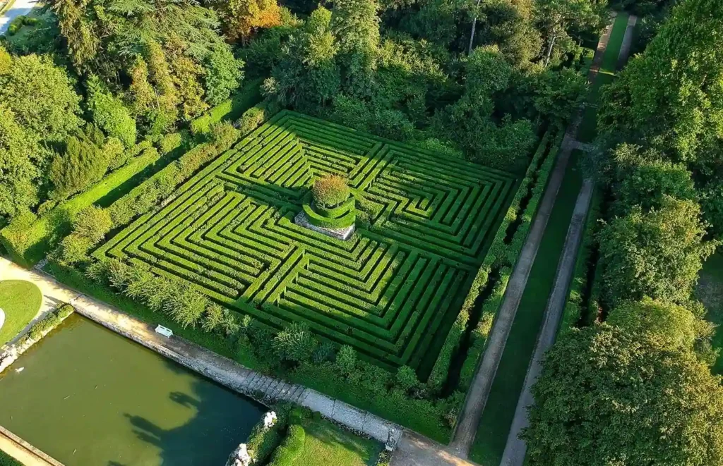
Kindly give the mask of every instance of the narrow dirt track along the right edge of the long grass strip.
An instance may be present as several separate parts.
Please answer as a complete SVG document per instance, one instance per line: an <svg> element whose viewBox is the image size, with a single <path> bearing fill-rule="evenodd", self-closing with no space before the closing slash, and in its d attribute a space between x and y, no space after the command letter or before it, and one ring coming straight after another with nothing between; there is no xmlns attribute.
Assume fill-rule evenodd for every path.
<svg viewBox="0 0 723 466"><path fill-rule="evenodd" d="M620 55L618 56L618 69L621 67L620 63L624 64L628 59L630 43L633 40L633 28L636 25L636 21L637 18L634 15L630 15L628 27L625 29L623 45L620 48ZM560 318L562 317L562 310L565 309L570 280L575 271L578 249L582 241L585 219L590 207L593 189L594 182L588 178L584 181L583 187L578 194L573 218L570 220L570 227L567 237L565 237L562 255L560 256L560 263L557 265L555 286L547 302L545 320L537 338L535 353L530 362L523 390L518 400L517 408L515 409L515 417L513 418L510 434L505 445L505 452L502 454L502 466L522 466L525 460L527 447L525 442L519 438L519 435L523 428L529 426L527 407L534 403L531 388L540 372L542 372L544 353L552 347L557 337L557 329L560 327Z"/></svg>

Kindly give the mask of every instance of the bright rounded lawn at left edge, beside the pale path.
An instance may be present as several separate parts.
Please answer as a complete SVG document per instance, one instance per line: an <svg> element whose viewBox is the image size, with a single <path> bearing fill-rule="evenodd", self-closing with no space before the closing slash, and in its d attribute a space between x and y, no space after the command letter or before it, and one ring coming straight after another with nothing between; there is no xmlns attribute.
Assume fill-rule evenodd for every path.
<svg viewBox="0 0 723 466"><path fill-rule="evenodd" d="M5 312L5 324L0 328L0 345L17 335L33 320L43 302L38 286L29 281L0 281L0 309Z"/></svg>

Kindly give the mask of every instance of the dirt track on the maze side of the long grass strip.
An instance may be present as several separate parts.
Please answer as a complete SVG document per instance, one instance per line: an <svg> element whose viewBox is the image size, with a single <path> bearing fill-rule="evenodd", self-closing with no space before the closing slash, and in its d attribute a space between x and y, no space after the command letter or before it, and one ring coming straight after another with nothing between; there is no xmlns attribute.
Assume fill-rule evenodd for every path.
<svg viewBox="0 0 723 466"><path fill-rule="evenodd" d="M600 39L598 48L593 61L593 68L591 73L596 72L599 68L599 64L602 61L602 56L605 49L607 48L607 41L610 38L610 32L612 31L612 25L609 26L605 34ZM532 228L528 234L525 245L523 246L520 258L515 264L515 269L510 276L507 290L505 291L505 297L500 306L497 317L495 318L495 324L492 327L492 333L489 336L487 348L484 350L484 356L482 362L476 371L474 380L472 381L471 387L467 394L465 405L460 414L460 418L455 429L455 434L452 442L450 443L450 449L458 456L467 458L469 450L471 449L474 437L479 427L479 420L482 417L482 411L487 403L489 397L489 391L492 388L492 381L495 379L497 374L497 368L500 365L502 359L502 353L505 351L505 343L510 329L512 328L517 314L517 309L520 305L523 292L527 285L530 271L537 255L540 242L542 242L542 236L545 228L547 227L547 221L552 213L552 208L555 206L555 199L557 193L562 185L562 180L565 177L565 171L568 167L568 161L570 160L570 154L573 149L574 135L577 132L577 125L580 118L576 118L573 123L570 124L568 132L565 133L565 139L562 141L562 148L557 158L557 163L553 169L552 175L549 179L547 189L545 190L542 202L539 205L539 209L535 216Z"/></svg>

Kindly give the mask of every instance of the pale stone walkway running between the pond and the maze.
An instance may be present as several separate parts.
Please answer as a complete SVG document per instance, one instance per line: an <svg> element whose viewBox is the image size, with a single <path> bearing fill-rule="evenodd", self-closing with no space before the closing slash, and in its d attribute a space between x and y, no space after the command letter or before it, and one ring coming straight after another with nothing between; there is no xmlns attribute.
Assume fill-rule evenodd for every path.
<svg viewBox="0 0 723 466"><path fill-rule="evenodd" d="M38 285L40 291L43 292L43 299L48 298L55 302L72 304L79 314L100 325L262 403L273 403L277 400L298 403L318 411L322 416L343 426L363 432L382 442L388 440L390 432L397 439L401 436L401 427L394 423L334 400L315 390L254 372L231 359L184 340L184 338L175 335L171 338L163 337L155 333L153 325L70 289L46 273L35 270L27 271L20 265L0 258L0 280L6 279L31 281Z"/></svg>

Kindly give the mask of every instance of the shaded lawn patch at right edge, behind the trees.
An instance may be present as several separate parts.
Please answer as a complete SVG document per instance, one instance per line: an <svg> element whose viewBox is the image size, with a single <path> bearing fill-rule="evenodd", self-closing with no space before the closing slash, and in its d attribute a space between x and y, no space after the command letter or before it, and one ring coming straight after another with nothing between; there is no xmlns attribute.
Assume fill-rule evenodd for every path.
<svg viewBox="0 0 723 466"><path fill-rule="evenodd" d="M723 374L723 252L717 252L703 264L698 280L698 298L708 309L706 319L718 325L713 347L721 354L712 370L714 374Z"/></svg>

